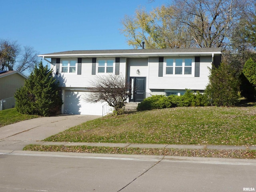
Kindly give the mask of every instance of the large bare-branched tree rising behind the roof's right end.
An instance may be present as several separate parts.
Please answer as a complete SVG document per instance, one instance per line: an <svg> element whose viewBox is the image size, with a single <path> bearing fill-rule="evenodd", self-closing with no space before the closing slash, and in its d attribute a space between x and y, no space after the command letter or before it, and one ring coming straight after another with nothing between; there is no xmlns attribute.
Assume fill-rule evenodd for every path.
<svg viewBox="0 0 256 192"><path fill-rule="evenodd" d="M190 31L198 47L230 46L240 20L253 9L252 0L175 0L176 19ZM254 8L255 9L255 8Z"/></svg>

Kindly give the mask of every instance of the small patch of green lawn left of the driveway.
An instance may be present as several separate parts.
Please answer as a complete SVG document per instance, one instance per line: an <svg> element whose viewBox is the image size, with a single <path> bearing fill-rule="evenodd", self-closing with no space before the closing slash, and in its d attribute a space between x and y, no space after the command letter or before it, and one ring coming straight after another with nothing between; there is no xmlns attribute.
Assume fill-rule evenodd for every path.
<svg viewBox="0 0 256 192"><path fill-rule="evenodd" d="M38 117L40 116L20 114L15 108L2 110L0 111L0 127Z"/></svg>

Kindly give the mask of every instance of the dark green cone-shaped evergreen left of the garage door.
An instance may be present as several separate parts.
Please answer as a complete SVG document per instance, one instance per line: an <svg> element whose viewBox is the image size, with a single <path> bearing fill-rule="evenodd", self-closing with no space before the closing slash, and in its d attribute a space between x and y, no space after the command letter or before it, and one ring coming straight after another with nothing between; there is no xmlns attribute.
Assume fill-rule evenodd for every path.
<svg viewBox="0 0 256 192"><path fill-rule="evenodd" d="M52 70L42 61L34 68L22 88L15 93L16 108L22 114L50 116L57 114L62 105L58 83Z"/></svg>

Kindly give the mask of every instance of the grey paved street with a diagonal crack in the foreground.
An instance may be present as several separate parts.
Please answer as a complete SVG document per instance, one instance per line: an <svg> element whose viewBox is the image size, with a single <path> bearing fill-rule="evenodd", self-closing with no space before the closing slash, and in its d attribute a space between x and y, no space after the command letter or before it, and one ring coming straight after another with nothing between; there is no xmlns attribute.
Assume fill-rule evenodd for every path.
<svg viewBox="0 0 256 192"><path fill-rule="evenodd" d="M242 192L256 163L214 158L12 152L0 155L1 192Z"/></svg>

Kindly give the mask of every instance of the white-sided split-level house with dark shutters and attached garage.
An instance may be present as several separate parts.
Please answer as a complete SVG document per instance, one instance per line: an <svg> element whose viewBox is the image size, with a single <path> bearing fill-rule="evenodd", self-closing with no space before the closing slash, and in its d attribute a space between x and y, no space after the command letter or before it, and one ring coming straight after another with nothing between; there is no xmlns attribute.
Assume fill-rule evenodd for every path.
<svg viewBox="0 0 256 192"><path fill-rule="evenodd" d="M203 92L212 64L221 62L220 48L80 50L39 55L51 64L62 89L63 114L102 115L106 103L84 98L92 82L109 74L130 82L127 102L151 95L182 95L186 89Z"/></svg>

